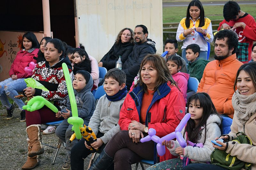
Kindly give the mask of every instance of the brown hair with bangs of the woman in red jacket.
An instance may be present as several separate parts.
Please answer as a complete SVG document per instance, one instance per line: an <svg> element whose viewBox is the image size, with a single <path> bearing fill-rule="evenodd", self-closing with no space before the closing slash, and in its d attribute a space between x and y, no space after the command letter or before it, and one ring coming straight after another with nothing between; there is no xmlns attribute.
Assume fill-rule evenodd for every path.
<svg viewBox="0 0 256 170"><path fill-rule="evenodd" d="M156 86L154 87L154 91L162 85L163 83L170 82L172 85L177 86L176 82L173 80L171 73L165 63L164 58L159 54L148 54L144 57L140 64L140 71L139 71L139 77L137 83L134 85L136 87L138 84L143 87L144 92L148 92L147 85L143 83L141 78L141 70L142 67L148 63L151 67L153 67L157 71L157 80L156 80Z"/></svg>

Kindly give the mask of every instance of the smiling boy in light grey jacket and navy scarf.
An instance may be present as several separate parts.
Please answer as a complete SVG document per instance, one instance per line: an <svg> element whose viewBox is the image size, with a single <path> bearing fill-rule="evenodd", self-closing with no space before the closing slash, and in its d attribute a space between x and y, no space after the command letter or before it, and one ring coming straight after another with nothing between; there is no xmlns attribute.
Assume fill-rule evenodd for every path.
<svg viewBox="0 0 256 170"><path fill-rule="evenodd" d="M117 68L109 70L105 75L103 88L106 94L98 101L88 125L97 136L97 141L89 146L86 144L85 139L82 138L72 148L72 170L84 169L84 159L93 152L90 151L90 147L99 149L101 152L111 137L120 131L117 123L120 109L127 94L125 82L125 73ZM108 169L114 169L114 165Z"/></svg>

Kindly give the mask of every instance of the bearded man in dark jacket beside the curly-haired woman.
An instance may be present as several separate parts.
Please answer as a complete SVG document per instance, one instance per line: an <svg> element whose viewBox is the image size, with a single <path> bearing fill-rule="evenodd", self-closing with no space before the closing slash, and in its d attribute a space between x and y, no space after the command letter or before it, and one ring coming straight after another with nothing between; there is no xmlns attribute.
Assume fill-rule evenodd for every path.
<svg viewBox="0 0 256 170"><path fill-rule="evenodd" d="M131 54L124 62L122 70L126 74L127 89L130 89L134 78L140 70L140 63L147 54L155 54L155 42L147 39L148 28L144 25L137 25L134 29L135 44Z"/></svg>

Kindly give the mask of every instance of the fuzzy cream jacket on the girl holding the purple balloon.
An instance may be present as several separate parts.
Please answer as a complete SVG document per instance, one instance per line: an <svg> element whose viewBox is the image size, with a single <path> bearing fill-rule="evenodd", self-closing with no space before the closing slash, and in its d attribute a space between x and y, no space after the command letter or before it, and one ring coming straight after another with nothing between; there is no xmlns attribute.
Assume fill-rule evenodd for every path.
<svg viewBox="0 0 256 170"><path fill-rule="evenodd" d="M203 148L199 147L193 147L193 146L187 146L184 148L184 154L183 157L188 157L191 159L191 162L193 163L206 163L210 162L211 158L210 155L212 151L214 150L212 146L211 140L215 139L216 137L219 137L220 132L220 117L217 115L210 115L206 121L206 129L204 126L201 127L201 130L199 131L197 143L204 143L204 134L206 130L206 140L204 143ZM185 131L185 127L182 129L181 134L183 135ZM187 136L185 135L185 141L187 141ZM173 147L168 148L172 155L174 156L180 156L175 153L175 149L179 147L179 142L173 141Z"/></svg>

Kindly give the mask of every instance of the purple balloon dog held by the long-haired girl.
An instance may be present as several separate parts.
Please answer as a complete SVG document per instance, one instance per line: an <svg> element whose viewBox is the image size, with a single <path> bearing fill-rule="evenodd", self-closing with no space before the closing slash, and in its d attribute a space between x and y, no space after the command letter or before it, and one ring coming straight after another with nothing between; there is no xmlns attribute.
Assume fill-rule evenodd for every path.
<svg viewBox="0 0 256 170"><path fill-rule="evenodd" d="M162 137L162 138L156 136L156 129L153 129L153 128L148 129L148 136L141 138L140 142L143 143L143 142L148 142L150 140L153 140L154 142L156 142L157 143L156 150L157 150L158 155L160 155L160 156L163 156L165 154L165 146L162 145L164 140L170 141L170 140L176 138L177 141L179 142L180 146L182 148L185 148L187 146L187 143L180 132L184 128L186 123L188 122L190 116L191 115L189 113L187 113L182 118L182 120L180 121L180 124L176 127L175 131Z"/></svg>

